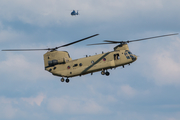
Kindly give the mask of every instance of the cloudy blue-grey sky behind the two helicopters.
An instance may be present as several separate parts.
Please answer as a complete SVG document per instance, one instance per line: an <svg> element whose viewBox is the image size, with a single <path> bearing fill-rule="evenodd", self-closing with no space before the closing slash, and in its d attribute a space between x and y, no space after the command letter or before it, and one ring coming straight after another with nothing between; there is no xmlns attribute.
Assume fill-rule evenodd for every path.
<svg viewBox="0 0 180 120"><path fill-rule="evenodd" d="M0 49L62 48L72 59L112 51L86 46L180 32L179 0L1 0ZM79 10L79 16L70 12ZM1 120L179 120L180 37L130 43L138 60L61 83L39 52L0 53Z"/></svg>

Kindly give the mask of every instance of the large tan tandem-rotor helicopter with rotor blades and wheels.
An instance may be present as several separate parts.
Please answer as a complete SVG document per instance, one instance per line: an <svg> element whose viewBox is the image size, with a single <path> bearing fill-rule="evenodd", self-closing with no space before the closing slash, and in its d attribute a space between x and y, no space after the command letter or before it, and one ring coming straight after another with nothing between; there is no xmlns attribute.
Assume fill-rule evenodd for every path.
<svg viewBox="0 0 180 120"><path fill-rule="evenodd" d="M148 39L154 39L159 37L166 37L177 35L175 34L166 34L155 37L148 37L137 40L129 40L129 41L112 41L112 40L104 40L104 43L96 43L89 45L104 45L104 44L118 44L114 47L114 50L111 52L106 52L94 56L86 56L84 58L72 60L67 51L57 51L57 49L62 47L67 47L73 45L75 43L87 40L89 38L95 37L99 34L95 34L65 45L61 45L54 48L45 48L45 49L5 49L2 51L39 51L46 50L47 52L44 54L44 67L45 70L52 73L55 76L61 77L61 82L66 81L69 82L69 78L75 76L82 76L94 72L101 71L102 75L109 76L110 73L108 69L116 68L122 66L124 68L125 65L133 63L137 60L137 56L132 54L132 52L128 48L128 43L143 41ZM66 78L66 80L65 80Z"/></svg>

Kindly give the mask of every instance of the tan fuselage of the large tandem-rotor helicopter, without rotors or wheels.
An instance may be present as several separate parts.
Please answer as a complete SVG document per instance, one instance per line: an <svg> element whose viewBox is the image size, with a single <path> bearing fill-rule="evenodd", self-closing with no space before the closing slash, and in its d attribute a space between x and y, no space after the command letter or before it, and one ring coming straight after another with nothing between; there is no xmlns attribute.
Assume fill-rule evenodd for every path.
<svg viewBox="0 0 180 120"><path fill-rule="evenodd" d="M130 54L129 54L130 53ZM72 60L66 51L44 54L45 70L60 77L81 76L88 73L130 64L137 59L127 44L116 46L114 51Z"/></svg>

